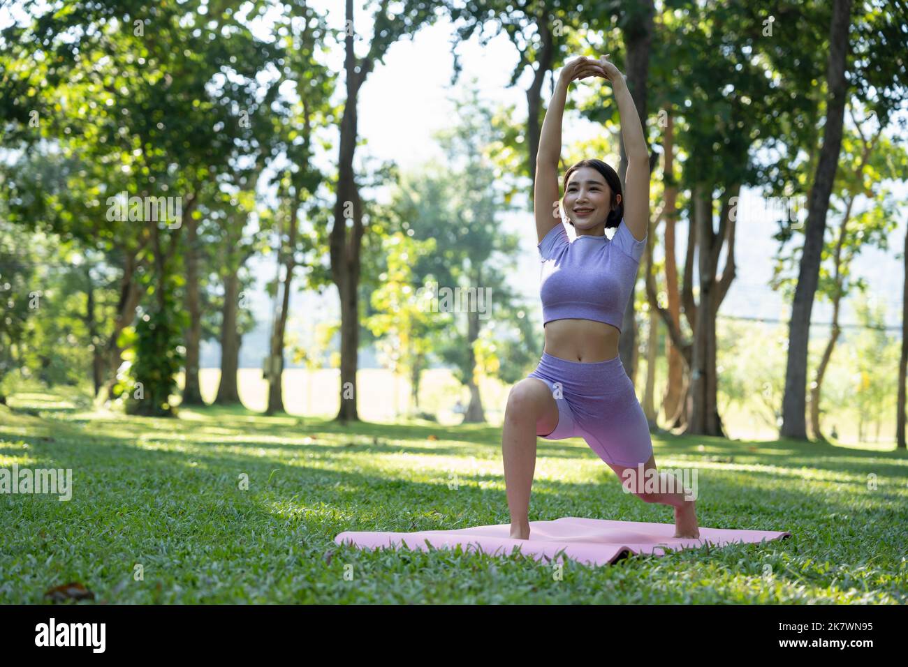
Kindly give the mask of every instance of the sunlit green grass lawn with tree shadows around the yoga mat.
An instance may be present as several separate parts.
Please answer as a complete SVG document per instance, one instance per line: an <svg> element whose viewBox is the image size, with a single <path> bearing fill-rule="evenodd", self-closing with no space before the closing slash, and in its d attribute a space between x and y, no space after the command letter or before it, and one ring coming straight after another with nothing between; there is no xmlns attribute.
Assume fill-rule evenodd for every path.
<svg viewBox="0 0 908 667"><path fill-rule="evenodd" d="M0 495L0 603L43 603L71 581L95 603L906 601L904 452L654 436L659 466L696 466L700 525L792 536L568 561L558 581L551 564L520 555L333 542L346 530L508 523L498 427L343 427L221 407L148 419L56 394L15 398L15 410L0 407L0 467L72 468L74 489L69 502ZM560 516L673 520L670 507L623 493L582 440L539 439L530 519Z"/></svg>

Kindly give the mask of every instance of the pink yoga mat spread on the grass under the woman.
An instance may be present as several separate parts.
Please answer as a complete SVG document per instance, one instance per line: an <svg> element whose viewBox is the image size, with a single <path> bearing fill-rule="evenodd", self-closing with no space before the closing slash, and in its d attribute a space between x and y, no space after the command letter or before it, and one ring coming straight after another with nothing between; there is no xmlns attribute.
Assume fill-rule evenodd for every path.
<svg viewBox="0 0 908 667"><path fill-rule="evenodd" d="M375 548L398 548L429 551L463 545L464 551L507 555L519 548L520 553L538 561L564 557L588 565L613 564L629 554L665 555L666 550L680 551L707 543L725 544L775 540L791 533L774 530L732 530L700 526L698 539L672 537L675 524L645 524L637 521L611 521L564 516L555 521L529 522L529 539L512 540L510 525L477 525L458 530L422 530L416 533L367 533L344 531L334 538L337 544ZM426 543L429 544L426 544Z"/></svg>

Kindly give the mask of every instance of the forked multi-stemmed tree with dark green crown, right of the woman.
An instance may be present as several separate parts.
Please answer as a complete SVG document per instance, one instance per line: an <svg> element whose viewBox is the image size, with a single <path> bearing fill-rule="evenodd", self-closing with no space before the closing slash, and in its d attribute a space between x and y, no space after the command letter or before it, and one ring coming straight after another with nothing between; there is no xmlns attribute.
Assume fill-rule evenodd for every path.
<svg viewBox="0 0 908 667"><path fill-rule="evenodd" d="M690 369L684 414L676 415L674 422L683 423L686 433L724 435L716 403L716 314L735 280L737 201L743 186L769 180L756 150L769 147L787 118L810 108L809 94L794 93L810 72L796 59L792 62L790 43L765 39L765 16L753 8L720 5L706 14L697 5L685 4L681 12L666 12L657 22L658 47L653 51L658 56L651 76L654 90L673 91L659 100L665 112L660 126L667 127L667 114L676 113L664 139L670 149L663 148L666 162L675 145L686 156L678 181L689 192L680 304L693 340L682 336L679 319L659 303L656 281L648 276L647 299ZM787 20L809 25L808 18ZM798 34L803 41L797 44L798 54L809 53L814 35L806 29ZM673 162L663 168L666 194L675 186L673 169ZM670 207L667 212L675 214ZM674 245L674 234L671 240ZM719 273L723 246L725 264ZM666 269L674 264L672 255Z"/></svg>

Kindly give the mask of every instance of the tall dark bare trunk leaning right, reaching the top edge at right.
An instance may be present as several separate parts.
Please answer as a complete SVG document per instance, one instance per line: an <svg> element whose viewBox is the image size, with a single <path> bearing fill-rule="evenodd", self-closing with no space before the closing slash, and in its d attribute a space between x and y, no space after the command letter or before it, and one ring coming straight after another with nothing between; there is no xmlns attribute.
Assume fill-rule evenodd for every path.
<svg viewBox="0 0 908 667"><path fill-rule="evenodd" d="M792 316L788 325L788 359L785 368L785 396L782 400L782 429L780 436L806 439L804 403L807 378L807 345L810 340L810 315L820 273L826 211L833 191L835 172L842 148L842 123L847 101L848 83L845 80L845 60L848 52L848 29L851 23L852 0L834 0L833 19L829 34L829 61L826 71L826 122L823 148L816 165L814 186L810 191L804 251L798 272Z"/></svg>

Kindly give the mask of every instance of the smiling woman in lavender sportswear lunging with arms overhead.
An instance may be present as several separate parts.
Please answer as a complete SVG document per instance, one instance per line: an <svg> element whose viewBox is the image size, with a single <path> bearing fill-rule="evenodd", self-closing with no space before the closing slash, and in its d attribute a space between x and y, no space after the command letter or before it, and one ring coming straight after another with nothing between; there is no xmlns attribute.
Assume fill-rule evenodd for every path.
<svg viewBox="0 0 908 667"><path fill-rule="evenodd" d="M646 503L675 507L675 537L700 536L695 501L686 499L686 489L645 492L652 489L646 478L655 475L659 491L677 486L670 486L674 478L657 473L646 416L617 353L621 319L646 248L649 155L627 83L607 57L581 57L565 65L539 138L533 204L546 343L536 370L511 388L502 434L515 539L529 538L537 436L583 437L628 491ZM605 162L584 160L568 169L561 204L577 231L571 242L558 210L561 117L568 84L587 76L607 79L615 91L627 150L627 198ZM611 240L607 227L617 227Z"/></svg>

